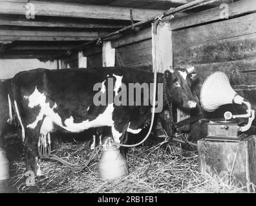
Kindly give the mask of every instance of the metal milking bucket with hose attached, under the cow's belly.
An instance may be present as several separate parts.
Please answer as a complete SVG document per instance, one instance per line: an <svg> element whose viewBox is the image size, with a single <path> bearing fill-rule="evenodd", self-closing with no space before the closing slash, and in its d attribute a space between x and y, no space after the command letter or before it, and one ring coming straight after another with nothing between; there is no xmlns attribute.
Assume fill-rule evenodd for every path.
<svg viewBox="0 0 256 206"><path fill-rule="evenodd" d="M120 147L112 145L111 138L108 138L103 146L98 172L103 180L112 180L129 174L127 161L123 158Z"/></svg>

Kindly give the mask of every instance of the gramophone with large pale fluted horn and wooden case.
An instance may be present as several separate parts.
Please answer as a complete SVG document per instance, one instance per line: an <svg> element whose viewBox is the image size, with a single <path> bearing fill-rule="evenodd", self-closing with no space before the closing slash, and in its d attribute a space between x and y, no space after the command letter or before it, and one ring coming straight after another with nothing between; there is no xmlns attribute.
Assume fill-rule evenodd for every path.
<svg viewBox="0 0 256 206"><path fill-rule="evenodd" d="M247 107L246 114L233 115L230 111L226 111L224 118L209 120L206 140L240 141L248 136L244 132L250 129L255 111L251 109L248 100L231 88L225 73L216 71L204 81L200 91L200 102L202 108L208 112L213 112L224 104L240 104ZM246 119L248 122L244 123Z"/></svg>

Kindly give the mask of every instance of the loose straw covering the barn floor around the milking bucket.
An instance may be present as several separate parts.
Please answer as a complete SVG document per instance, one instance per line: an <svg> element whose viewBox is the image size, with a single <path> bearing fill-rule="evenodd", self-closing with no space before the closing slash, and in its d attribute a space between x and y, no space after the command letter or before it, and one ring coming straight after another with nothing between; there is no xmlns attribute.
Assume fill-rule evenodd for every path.
<svg viewBox="0 0 256 206"><path fill-rule="evenodd" d="M85 163L92 151L88 142L62 144L54 154L76 164ZM203 176L198 173L196 151L186 154L169 142L154 147L129 149L130 174L106 181L98 178L98 159L77 172L56 162L41 160L44 178L34 187L25 185L25 162L12 162L12 189L17 192L246 192L232 177Z"/></svg>

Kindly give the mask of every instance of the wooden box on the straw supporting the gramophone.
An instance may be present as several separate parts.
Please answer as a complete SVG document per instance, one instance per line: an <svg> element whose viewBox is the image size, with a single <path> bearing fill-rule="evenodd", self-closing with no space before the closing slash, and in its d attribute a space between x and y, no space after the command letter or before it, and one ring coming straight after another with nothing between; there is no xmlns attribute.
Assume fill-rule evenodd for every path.
<svg viewBox="0 0 256 206"><path fill-rule="evenodd" d="M244 186L250 182L256 184L255 145L255 135L248 136L240 142L198 140L200 172L202 174L228 172Z"/></svg>

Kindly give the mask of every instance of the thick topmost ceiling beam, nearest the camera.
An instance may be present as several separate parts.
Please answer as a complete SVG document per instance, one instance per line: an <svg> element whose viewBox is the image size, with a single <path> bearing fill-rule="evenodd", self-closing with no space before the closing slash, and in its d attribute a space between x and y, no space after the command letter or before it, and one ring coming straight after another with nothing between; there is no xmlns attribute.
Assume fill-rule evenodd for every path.
<svg viewBox="0 0 256 206"><path fill-rule="evenodd" d="M53 17L76 17L88 19L116 19L129 20L130 9L133 9L133 20L141 21L149 19L164 10L128 8L118 6L102 6L102 5L82 5L67 2L45 2L45 1L29 1L35 6L35 16L53 16ZM0 14L26 14L26 5L20 1L1 2Z"/></svg>

